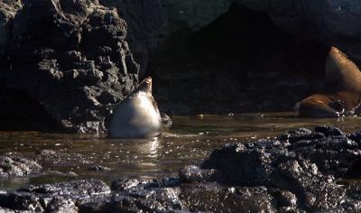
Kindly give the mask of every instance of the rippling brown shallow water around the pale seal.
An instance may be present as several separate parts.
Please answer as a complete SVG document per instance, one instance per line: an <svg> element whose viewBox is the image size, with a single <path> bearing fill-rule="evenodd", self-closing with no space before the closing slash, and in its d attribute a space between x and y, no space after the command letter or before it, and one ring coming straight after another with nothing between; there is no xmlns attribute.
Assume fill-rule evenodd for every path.
<svg viewBox="0 0 361 213"><path fill-rule="evenodd" d="M153 179L176 175L183 165L201 163L222 144L274 137L297 127L335 125L346 132L361 131L361 117L301 119L292 113L174 116L172 121L171 129L162 136L143 140L108 139L93 134L0 132L0 153L21 153L44 167L42 175L0 180L0 190L80 178L109 182L121 176ZM56 153L35 154L42 150ZM97 165L110 171L89 171Z"/></svg>

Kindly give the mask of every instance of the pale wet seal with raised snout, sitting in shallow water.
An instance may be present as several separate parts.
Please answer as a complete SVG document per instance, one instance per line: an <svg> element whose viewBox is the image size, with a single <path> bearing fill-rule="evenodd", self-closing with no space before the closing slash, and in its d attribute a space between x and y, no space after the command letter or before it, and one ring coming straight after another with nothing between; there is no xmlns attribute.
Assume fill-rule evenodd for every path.
<svg viewBox="0 0 361 213"><path fill-rule="evenodd" d="M161 134L162 117L152 95L152 78L143 79L139 87L116 106L109 121L109 137L144 138Z"/></svg>

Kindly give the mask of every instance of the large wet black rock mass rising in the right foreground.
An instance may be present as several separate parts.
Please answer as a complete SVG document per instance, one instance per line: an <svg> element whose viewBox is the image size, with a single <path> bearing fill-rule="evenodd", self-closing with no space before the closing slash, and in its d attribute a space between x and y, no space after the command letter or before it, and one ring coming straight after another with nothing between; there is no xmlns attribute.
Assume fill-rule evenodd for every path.
<svg viewBox="0 0 361 213"><path fill-rule="evenodd" d="M358 144L338 129L316 129L323 133L299 129L278 137L280 141L228 144L211 153L202 168L222 172L226 178L219 181L227 184L286 190L271 191L282 211L295 206L308 211L357 209L359 200L347 196L347 188L335 177L345 177L356 167ZM290 138L292 144L287 143ZM344 206L341 200L349 204Z"/></svg>

